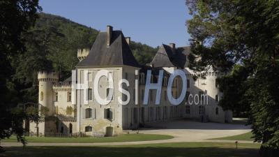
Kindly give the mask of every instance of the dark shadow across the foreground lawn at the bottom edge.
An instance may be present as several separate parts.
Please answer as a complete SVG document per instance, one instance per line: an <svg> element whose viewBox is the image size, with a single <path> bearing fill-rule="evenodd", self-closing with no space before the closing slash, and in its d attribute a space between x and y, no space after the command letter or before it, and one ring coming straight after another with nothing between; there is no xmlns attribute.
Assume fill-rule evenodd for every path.
<svg viewBox="0 0 279 157"><path fill-rule="evenodd" d="M218 147L6 147L4 157L250 157L259 156L258 149L229 149Z"/></svg>

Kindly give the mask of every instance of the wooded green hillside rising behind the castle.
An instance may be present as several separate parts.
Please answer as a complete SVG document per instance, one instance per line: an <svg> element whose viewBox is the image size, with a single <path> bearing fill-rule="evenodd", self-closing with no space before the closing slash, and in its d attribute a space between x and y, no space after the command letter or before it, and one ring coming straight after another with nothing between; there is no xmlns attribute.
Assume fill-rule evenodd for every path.
<svg viewBox="0 0 279 157"><path fill-rule="evenodd" d="M98 35L96 29L64 17L38 15L34 26L24 33L26 52L12 59L13 81L17 82L12 88L17 94L15 98L22 102L38 101L38 71L53 71L59 73L61 81L65 80L78 62L77 49L90 48ZM149 63L158 47L132 41L130 49L139 63Z"/></svg>

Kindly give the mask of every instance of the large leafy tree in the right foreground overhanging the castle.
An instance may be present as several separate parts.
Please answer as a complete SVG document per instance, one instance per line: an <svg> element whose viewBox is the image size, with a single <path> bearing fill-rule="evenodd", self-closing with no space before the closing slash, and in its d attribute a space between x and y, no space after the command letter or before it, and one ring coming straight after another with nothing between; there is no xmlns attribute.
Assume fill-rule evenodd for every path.
<svg viewBox="0 0 279 157"><path fill-rule="evenodd" d="M279 1L186 0L190 68L226 73L220 105L246 110L261 156L279 150ZM235 91L232 91L235 90Z"/></svg>

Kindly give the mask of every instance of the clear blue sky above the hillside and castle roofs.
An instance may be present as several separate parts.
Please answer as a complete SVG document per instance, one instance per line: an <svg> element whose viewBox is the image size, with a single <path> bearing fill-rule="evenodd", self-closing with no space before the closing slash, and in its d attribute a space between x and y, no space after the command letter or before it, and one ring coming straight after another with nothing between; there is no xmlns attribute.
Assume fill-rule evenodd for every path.
<svg viewBox="0 0 279 157"><path fill-rule="evenodd" d="M189 45L185 0L40 0L44 13L66 17L99 31L107 25L131 40L156 47Z"/></svg>

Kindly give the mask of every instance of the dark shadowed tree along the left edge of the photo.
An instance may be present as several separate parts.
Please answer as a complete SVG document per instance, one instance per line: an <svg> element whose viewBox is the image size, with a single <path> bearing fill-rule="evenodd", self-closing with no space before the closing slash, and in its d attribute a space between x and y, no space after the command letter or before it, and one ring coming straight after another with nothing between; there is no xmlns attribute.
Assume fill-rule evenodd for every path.
<svg viewBox="0 0 279 157"><path fill-rule="evenodd" d="M17 91L11 81L14 70L10 59L24 53L22 33L34 24L38 10L41 10L38 0L0 2L0 140L15 133L18 140L25 142L22 122L29 114L13 109L18 99L14 97Z"/></svg>

